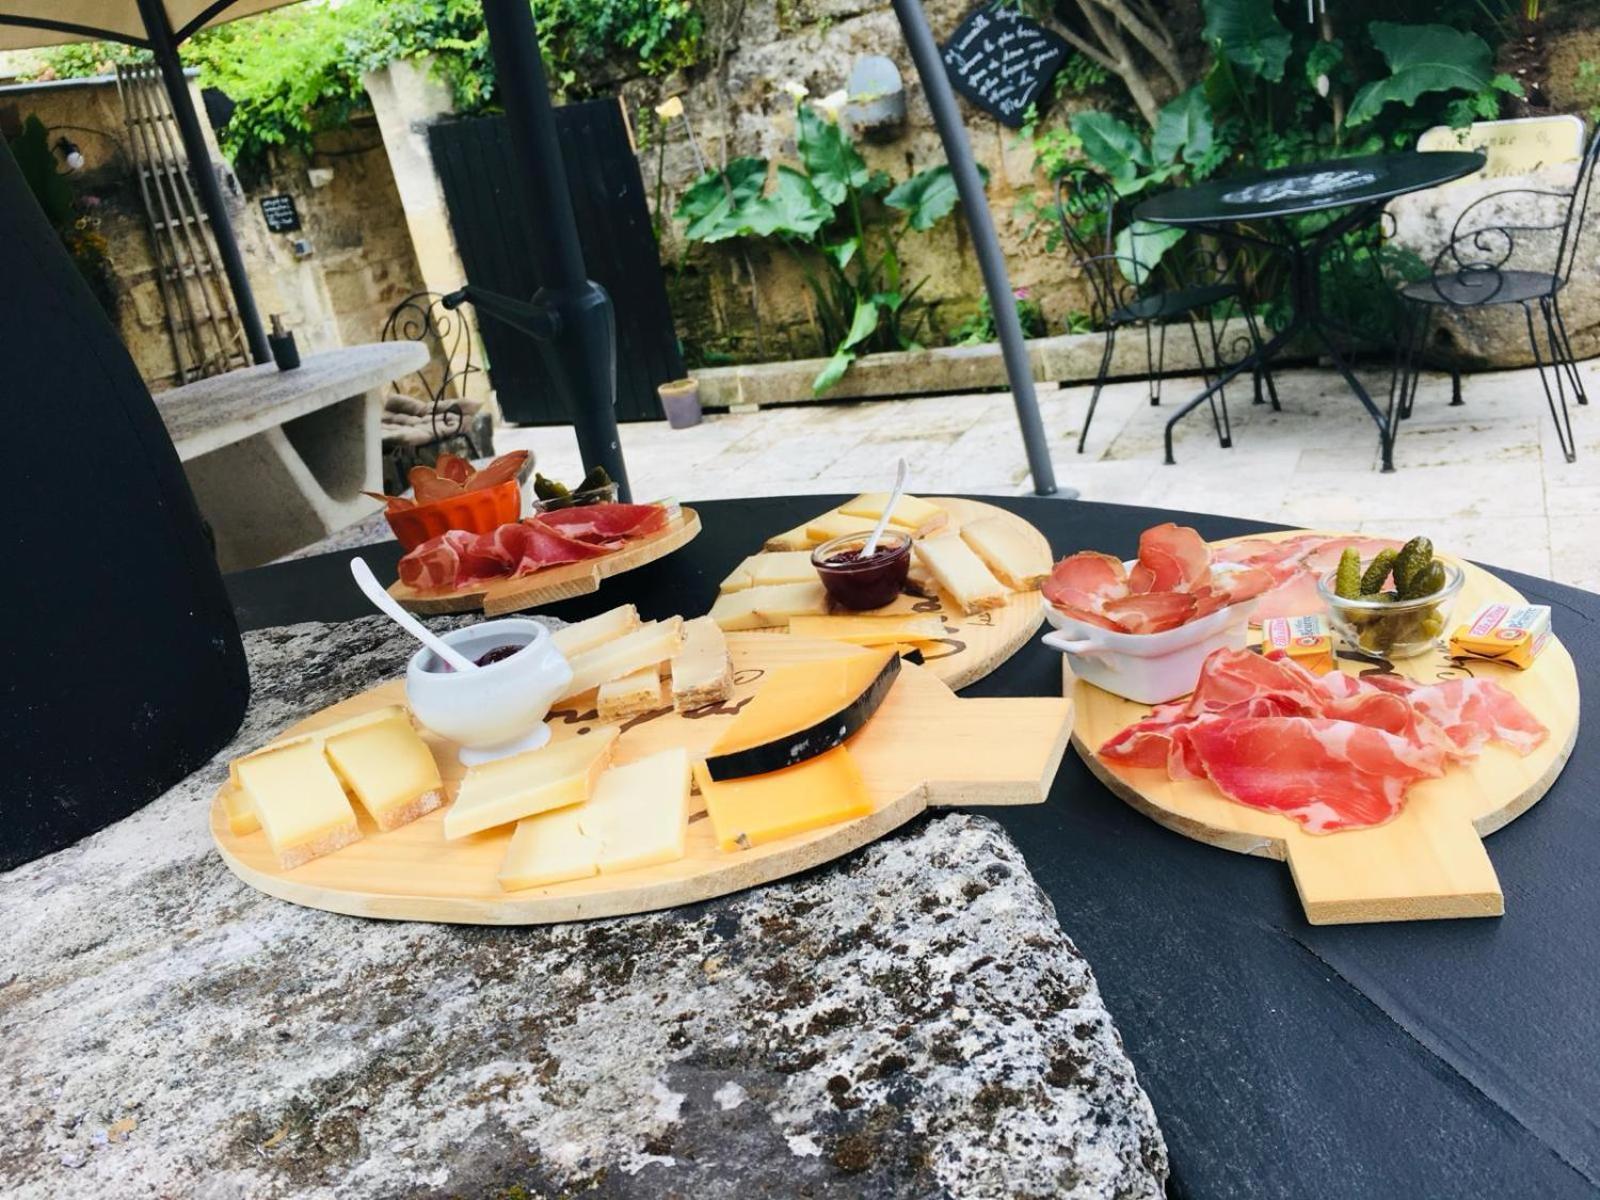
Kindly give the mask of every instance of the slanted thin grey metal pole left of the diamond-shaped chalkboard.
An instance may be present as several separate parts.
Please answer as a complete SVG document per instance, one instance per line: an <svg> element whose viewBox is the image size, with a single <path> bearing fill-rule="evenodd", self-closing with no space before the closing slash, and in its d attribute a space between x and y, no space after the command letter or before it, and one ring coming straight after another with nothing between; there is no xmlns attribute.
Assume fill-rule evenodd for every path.
<svg viewBox="0 0 1600 1200"><path fill-rule="evenodd" d="M1045 422L1038 416L1038 397L1034 395L1034 368L1027 360L1022 323L1016 318L1016 304L1011 299L1011 277L1006 274L1005 258L1000 254L1000 240L995 237L995 222L989 214L984 181L973 162L973 149L966 144L966 126L962 125L960 109L955 107L955 93L944 74L939 45L933 40L933 30L928 29L928 18L922 11L920 0L894 0L894 16L899 18L901 34L906 37L912 62L917 64L917 75L922 78L928 107L933 109L933 123L939 130L939 141L944 142L944 157L950 163L950 174L955 176L955 190L962 197L962 211L973 235L978 267L984 272L984 291L989 293L995 333L1000 334L1000 354L1005 357L1005 373L1011 381L1016 421L1022 427L1022 446L1027 450L1027 469L1034 477L1034 493L1075 499L1078 493L1072 488L1056 488L1056 469L1050 461L1050 440L1045 435Z"/></svg>

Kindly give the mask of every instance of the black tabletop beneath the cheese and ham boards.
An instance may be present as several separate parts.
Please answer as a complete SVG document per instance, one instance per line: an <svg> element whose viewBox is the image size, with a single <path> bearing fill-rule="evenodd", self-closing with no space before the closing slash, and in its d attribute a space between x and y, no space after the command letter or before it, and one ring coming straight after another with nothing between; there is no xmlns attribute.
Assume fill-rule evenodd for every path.
<svg viewBox="0 0 1600 1200"><path fill-rule="evenodd" d="M987 499L987 498L986 498ZM619 602L648 618L704 611L717 582L832 498L698 504L677 554L546 611ZM992 501L1058 554L1131 557L1162 520L1206 538L1259 522L1114 504ZM379 578L398 547L362 552ZM229 578L246 627L370 610L350 554ZM1538 603L1600 686L1600 595L1499 571ZM1054 694L1061 659L1037 642L973 696ZM1490 838L1498 920L1310 926L1282 862L1190 842L1110 795L1067 754L1050 802L981 810L1018 842L1088 955L1155 1102L1182 1197L1579 1197L1600 1192L1600 739Z"/></svg>

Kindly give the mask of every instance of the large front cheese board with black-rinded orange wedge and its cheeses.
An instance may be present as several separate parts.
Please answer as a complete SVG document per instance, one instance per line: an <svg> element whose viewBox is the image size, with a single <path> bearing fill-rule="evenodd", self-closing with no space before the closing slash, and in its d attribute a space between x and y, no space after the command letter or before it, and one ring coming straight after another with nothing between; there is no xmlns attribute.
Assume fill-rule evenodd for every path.
<svg viewBox="0 0 1600 1200"><path fill-rule="evenodd" d="M440 674L426 650L413 664L434 691L504 690L558 650L547 746L462 755L408 712L421 693L384 683L235 760L210 818L229 869L362 917L646 912L806 870L930 806L1042 803L1072 728L1066 698L962 699L891 650L624 606L499 659L496 627L522 624L445 635L477 672ZM606 686L648 691L640 677L654 702L603 720Z"/></svg>

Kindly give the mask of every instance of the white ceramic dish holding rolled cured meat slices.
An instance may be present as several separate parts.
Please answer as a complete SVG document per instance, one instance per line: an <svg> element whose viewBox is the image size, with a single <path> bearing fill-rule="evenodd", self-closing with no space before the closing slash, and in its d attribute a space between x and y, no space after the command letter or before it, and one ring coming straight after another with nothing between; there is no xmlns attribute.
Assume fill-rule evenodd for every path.
<svg viewBox="0 0 1600 1200"><path fill-rule="evenodd" d="M1214 570L1226 570L1226 563ZM1043 597L1040 603L1054 627L1045 645L1066 654L1080 680L1134 704L1165 704L1194 691L1200 664L1213 650L1245 648L1256 608L1254 600L1245 600L1162 634L1118 634L1074 621Z"/></svg>

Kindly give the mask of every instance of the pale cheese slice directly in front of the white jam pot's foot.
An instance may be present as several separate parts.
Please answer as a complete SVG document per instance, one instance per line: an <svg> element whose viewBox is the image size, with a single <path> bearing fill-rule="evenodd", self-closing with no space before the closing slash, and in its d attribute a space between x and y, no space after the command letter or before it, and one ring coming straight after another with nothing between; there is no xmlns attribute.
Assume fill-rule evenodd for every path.
<svg viewBox="0 0 1600 1200"><path fill-rule="evenodd" d="M445 838L510 824L534 813L578 805L611 762L616 726L565 738L467 770L456 802L445 811Z"/></svg>

